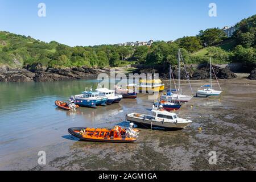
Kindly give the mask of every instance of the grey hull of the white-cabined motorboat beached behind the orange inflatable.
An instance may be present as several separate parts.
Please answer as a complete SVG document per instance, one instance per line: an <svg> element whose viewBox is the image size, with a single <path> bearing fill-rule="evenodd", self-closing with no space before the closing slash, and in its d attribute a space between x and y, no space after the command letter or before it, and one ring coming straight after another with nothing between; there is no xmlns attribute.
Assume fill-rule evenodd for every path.
<svg viewBox="0 0 256 182"><path fill-rule="evenodd" d="M156 121L151 121L149 119L140 119L140 118L131 117L129 115L127 115L126 120L133 122L138 126L142 126L142 127L144 126L147 128L151 128L151 125L152 125L152 127L162 127L164 129L184 129L190 124L190 122L189 123L156 122Z"/></svg>

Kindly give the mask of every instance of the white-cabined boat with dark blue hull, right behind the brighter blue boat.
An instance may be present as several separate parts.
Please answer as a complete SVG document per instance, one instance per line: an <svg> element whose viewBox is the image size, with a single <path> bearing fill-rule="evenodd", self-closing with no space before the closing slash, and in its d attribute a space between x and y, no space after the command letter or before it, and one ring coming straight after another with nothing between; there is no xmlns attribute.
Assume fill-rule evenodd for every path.
<svg viewBox="0 0 256 182"><path fill-rule="evenodd" d="M106 104L113 104L113 103L118 103L122 100L123 96L120 94L115 94L115 90L109 90L107 88L99 88L96 89L96 91L98 92L98 94L100 96L104 96L106 98L108 98L108 100L106 101Z"/></svg>

